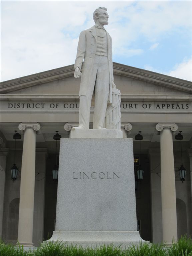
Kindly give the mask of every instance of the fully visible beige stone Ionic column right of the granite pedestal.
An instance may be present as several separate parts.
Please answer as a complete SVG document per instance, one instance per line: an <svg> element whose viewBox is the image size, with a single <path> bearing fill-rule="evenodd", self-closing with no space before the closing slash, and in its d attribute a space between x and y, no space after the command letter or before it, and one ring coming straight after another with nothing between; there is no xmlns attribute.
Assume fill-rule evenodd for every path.
<svg viewBox="0 0 192 256"><path fill-rule="evenodd" d="M171 244L173 239L177 241L177 213L172 131L176 131L178 127L174 123L159 123L156 125L156 129L161 132L161 203L163 242Z"/></svg>

